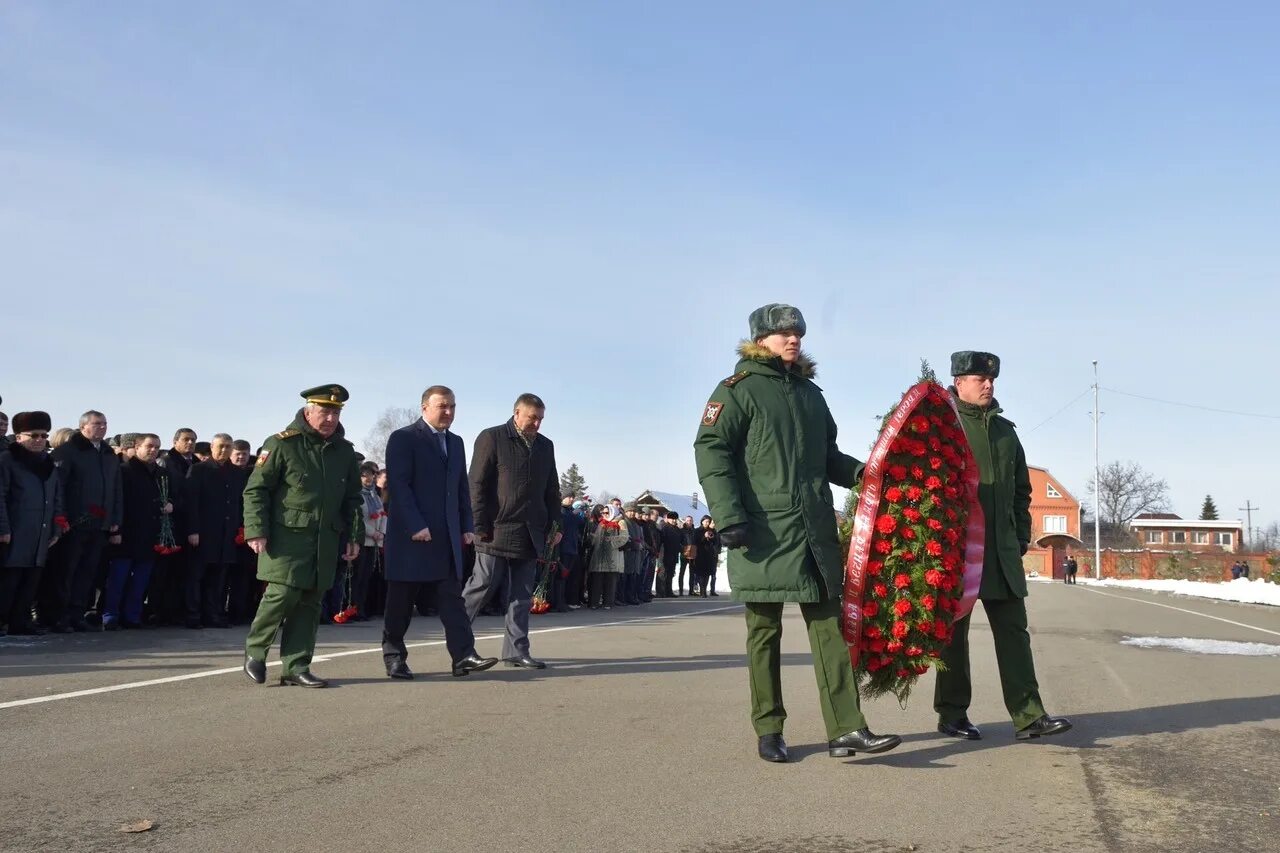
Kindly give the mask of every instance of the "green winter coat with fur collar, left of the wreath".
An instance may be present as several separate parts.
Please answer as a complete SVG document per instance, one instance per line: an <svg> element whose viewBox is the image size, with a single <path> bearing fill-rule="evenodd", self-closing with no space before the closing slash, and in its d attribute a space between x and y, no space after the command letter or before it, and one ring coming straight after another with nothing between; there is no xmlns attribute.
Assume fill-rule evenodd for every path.
<svg viewBox="0 0 1280 853"><path fill-rule="evenodd" d="M806 355L791 370L749 341L739 355L737 373L712 392L694 441L716 526L748 525L746 547L728 552L732 597L838 598L845 561L829 483L852 487L861 462L836 447L836 421Z"/></svg>

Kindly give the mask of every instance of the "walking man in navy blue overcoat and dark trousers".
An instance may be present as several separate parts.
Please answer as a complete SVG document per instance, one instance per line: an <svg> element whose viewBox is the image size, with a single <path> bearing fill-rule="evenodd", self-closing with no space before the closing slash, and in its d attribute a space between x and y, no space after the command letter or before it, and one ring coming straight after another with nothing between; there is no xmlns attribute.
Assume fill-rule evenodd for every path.
<svg viewBox="0 0 1280 853"><path fill-rule="evenodd" d="M453 675L488 670L495 657L476 654L471 620L462 605L462 546L475 533L466 447L449 432L457 400L444 386L422 392L422 419L387 442L387 610L383 662L393 679L412 679L404 631L415 602L434 603L444 625Z"/></svg>

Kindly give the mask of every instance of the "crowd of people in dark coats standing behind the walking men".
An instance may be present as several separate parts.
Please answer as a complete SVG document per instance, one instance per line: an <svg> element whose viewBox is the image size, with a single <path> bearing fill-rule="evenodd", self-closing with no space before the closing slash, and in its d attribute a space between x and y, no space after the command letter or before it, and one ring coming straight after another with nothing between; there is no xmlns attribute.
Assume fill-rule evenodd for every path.
<svg viewBox="0 0 1280 853"><path fill-rule="evenodd" d="M0 634L44 635L179 626L247 625L262 583L246 543L243 492L256 452L219 433L106 435L87 411L76 429L54 430L45 412L0 412ZM384 539L394 512L387 470L360 466L364 546L339 558L321 622L361 622L385 606ZM717 596L721 542L709 516L593 503L567 496L558 546L540 562L545 608L611 610L654 598ZM463 549L465 578L475 548ZM498 589L481 613L500 615ZM430 602L419 605L434 613ZM538 611L541 612L541 608Z"/></svg>

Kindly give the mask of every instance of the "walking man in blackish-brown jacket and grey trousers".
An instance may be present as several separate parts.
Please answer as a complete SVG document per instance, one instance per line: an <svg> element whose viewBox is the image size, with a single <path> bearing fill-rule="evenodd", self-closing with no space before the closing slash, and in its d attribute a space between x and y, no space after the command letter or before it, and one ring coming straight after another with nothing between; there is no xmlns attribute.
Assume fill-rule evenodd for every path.
<svg viewBox="0 0 1280 853"><path fill-rule="evenodd" d="M529 654L529 606L547 533L561 515L556 447L538 432L545 414L540 397L520 394L511 420L476 435L471 453L476 566L462 590L467 616L475 621L498 578L509 579L502 657L507 666L534 670L547 665ZM394 507L393 500L393 517ZM557 532L550 544L559 539Z"/></svg>

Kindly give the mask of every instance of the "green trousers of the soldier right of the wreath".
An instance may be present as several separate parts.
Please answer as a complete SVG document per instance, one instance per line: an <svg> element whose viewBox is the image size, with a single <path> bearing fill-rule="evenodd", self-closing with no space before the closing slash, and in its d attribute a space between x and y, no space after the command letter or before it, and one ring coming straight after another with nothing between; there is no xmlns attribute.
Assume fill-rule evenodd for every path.
<svg viewBox="0 0 1280 853"><path fill-rule="evenodd" d="M1032 660L1032 635L1027 630L1027 601L984 598L982 608L987 612L996 643L996 666L1000 669L1005 707L1014 727L1024 729L1044 713L1039 685L1036 683L1036 662ZM951 644L941 657L946 670L937 674L933 685L933 710L942 722L955 722L969 716L969 702L973 698L973 681L969 678L969 620L970 616L965 616L955 624Z"/></svg>

